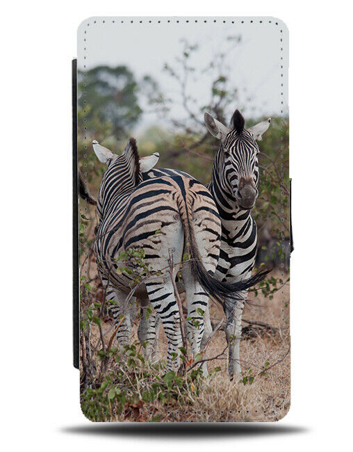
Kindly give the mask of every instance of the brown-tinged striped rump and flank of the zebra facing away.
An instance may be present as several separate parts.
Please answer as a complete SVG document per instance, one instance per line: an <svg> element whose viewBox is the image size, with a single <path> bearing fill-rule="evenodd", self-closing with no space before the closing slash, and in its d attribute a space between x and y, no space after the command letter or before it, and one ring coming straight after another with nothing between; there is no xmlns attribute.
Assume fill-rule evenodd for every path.
<svg viewBox="0 0 353 452"><path fill-rule="evenodd" d="M135 273L143 269L149 280L154 275L161 279L168 271L169 250L177 253L174 264L188 260L190 239L186 225L192 225L199 257L206 269L214 273L221 226L211 193L195 179L183 175L143 181L129 196L117 197L99 223L95 252L100 273L124 291L133 284ZM136 259L120 261L120 255L129 250L143 250L142 266L136 264ZM129 271L122 271L122 267ZM142 287L140 291L145 293Z"/></svg>

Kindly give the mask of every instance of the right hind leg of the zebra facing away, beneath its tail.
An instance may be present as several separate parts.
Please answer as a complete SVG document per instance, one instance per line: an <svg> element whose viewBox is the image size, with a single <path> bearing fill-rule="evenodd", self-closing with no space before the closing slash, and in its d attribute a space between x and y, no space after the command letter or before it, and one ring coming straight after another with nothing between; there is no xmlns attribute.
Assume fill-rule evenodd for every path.
<svg viewBox="0 0 353 452"><path fill-rule="evenodd" d="M208 315L208 295L202 289L201 284L192 275L190 263L184 264L181 270L183 282L186 291L186 300L188 304L188 321L186 321L186 332L190 343L192 358L195 359L201 351L202 339L204 336L204 315ZM211 323L210 323L211 325ZM212 332L212 328L211 328ZM211 334L211 333L210 333ZM206 343L205 343L206 344ZM202 364L202 373L208 376L206 362Z"/></svg>

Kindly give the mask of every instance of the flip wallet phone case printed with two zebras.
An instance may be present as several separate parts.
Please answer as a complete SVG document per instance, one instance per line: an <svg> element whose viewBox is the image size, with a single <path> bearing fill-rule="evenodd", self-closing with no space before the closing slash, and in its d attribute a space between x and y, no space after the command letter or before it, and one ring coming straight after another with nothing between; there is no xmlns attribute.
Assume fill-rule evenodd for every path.
<svg viewBox="0 0 353 452"><path fill-rule="evenodd" d="M281 419L293 248L286 26L91 17L73 81L83 413Z"/></svg>

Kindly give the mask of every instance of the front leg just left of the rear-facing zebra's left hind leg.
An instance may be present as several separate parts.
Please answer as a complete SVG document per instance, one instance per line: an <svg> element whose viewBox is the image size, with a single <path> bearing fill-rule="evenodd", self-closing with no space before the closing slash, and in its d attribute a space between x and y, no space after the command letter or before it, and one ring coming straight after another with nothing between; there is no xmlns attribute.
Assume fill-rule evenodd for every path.
<svg viewBox="0 0 353 452"><path fill-rule="evenodd" d="M138 339L145 344L145 357L151 362L158 361L158 332L161 325L161 317L152 308L148 298L140 300L141 318L138 325Z"/></svg>

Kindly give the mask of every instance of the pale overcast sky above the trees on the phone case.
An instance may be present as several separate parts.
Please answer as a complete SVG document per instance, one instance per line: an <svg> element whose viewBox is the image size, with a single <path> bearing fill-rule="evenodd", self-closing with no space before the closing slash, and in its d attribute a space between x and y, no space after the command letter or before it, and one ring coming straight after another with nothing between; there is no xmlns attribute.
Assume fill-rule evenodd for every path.
<svg viewBox="0 0 353 452"><path fill-rule="evenodd" d="M183 51L181 40L186 39L190 44L199 45L199 51L190 63L200 69L214 60L215 54L225 52L228 65L225 72L229 76L229 87L238 88L239 104L246 105L245 115L280 115L282 100L284 114L288 114L288 35L286 26L277 19L258 17L251 23L250 18L217 17L217 22L214 23L213 18L183 17L179 18L179 24L178 18L151 18L151 24L148 17L131 19L99 17L85 20L78 31L79 69L83 70L84 64L87 69L97 65L126 65L133 71L136 79L149 74L158 81L161 90L168 97L175 99L170 116L183 118L183 108L177 104L177 99L180 99L177 96L177 82L162 69L165 63L175 66L175 59ZM167 22L168 19L170 23ZM190 22L187 23L187 19ZM160 24L158 20L161 20ZM206 24L204 20L207 20ZM226 21L225 24L223 20ZM234 24L231 23L232 20ZM272 20L271 24L269 20ZM276 25L275 22L279 24ZM229 36L238 35L241 36L239 44L227 40ZM281 51L281 47L284 51ZM283 77L281 65L284 66ZM283 88L281 83L284 84ZM197 83L190 79L189 86L190 93L198 99L199 105L208 102L210 74L201 76ZM234 105L233 109L237 107ZM150 122L156 122L156 118L144 115L140 127L147 127Z"/></svg>

